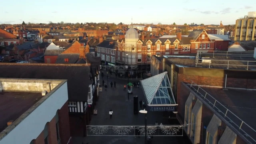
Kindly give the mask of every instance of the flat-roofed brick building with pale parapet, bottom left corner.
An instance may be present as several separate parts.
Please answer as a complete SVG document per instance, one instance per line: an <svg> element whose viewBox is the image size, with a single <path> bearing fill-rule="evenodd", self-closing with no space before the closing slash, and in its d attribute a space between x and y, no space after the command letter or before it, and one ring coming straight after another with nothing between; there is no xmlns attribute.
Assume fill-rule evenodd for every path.
<svg viewBox="0 0 256 144"><path fill-rule="evenodd" d="M1 78L1 82L0 144L72 144L66 80ZM9 108L10 103L19 110Z"/></svg>

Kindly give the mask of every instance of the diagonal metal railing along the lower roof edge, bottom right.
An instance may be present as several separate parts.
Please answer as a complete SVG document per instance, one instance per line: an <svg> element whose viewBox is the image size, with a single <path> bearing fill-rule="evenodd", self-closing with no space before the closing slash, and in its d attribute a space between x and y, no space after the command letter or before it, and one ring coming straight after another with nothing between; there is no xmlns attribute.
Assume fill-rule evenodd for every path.
<svg viewBox="0 0 256 144"><path fill-rule="evenodd" d="M238 133L240 133L246 140L250 139L254 142L255 136L256 136L256 130L254 130L251 126L246 124L243 120L241 120L236 114L228 110L224 105L222 105L218 100L216 100L214 97L212 97L208 92L206 92L204 89L202 89L200 86L198 86L196 83L192 82L189 84L186 82L187 86L190 87L191 90L196 92L198 96L202 98L204 102L211 108L213 108L220 116L224 118L224 120L227 123L230 123L230 126L232 126ZM233 118L232 118L233 117ZM248 134L248 133L252 134ZM254 136L254 138L252 138ZM250 144L253 144L248 140Z"/></svg>

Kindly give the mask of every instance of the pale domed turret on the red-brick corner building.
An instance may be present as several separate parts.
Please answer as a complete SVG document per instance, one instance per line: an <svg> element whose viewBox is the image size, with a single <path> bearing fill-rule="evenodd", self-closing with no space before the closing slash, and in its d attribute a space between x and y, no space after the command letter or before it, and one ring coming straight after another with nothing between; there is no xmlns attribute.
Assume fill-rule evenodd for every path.
<svg viewBox="0 0 256 144"><path fill-rule="evenodd" d="M125 34L125 44L126 46L134 46L136 47L136 43L139 40L139 34L138 32L131 26L126 34Z"/></svg>

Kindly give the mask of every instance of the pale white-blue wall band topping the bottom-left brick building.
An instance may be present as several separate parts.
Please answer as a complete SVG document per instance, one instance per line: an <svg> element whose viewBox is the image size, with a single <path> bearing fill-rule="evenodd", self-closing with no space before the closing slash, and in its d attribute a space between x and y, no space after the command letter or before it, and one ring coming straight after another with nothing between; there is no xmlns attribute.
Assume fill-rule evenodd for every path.
<svg viewBox="0 0 256 144"><path fill-rule="evenodd" d="M57 110L62 108L67 102L67 82L57 90L53 89L51 92L53 92L53 94L0 140L0 144L30 144L33 139L36 139L40 135L46 123L50 122L56 115ZM26 114L26 112L24 114Z"/></svg>

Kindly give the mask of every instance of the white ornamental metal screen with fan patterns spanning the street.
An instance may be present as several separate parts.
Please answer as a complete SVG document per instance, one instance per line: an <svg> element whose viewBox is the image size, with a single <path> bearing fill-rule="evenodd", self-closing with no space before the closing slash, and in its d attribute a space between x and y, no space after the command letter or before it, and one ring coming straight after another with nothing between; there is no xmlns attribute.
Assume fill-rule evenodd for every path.
<svg viewBox="0 0 256 144"><path fill-rule="evenodd" d="M183 126L147 126L149 136L183 136ZM87 136L144 136L145 126L87 126Z"/></svg>

